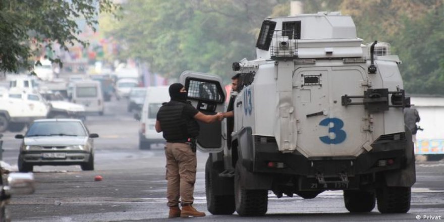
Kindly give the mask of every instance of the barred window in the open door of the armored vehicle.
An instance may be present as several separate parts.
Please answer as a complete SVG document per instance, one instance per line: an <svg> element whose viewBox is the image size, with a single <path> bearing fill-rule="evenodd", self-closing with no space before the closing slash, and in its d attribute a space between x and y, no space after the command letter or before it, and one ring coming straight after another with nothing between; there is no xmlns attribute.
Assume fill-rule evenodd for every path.
<svg viewBox="0 0 444 222"><path fill-rule="evenodd" d="M224 93L215 82L204 82L203 80L188 80L186 86L188 97L209 102L224 102Z"/></svg>

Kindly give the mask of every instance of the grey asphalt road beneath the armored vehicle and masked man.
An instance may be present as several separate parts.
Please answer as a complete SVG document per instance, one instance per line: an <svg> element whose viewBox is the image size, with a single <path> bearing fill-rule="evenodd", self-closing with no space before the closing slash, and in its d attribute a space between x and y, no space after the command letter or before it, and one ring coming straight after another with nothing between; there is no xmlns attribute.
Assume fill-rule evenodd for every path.
<svg viewBox="0 0 444 222"><path fill-rule="evenodd" d="M167 220L164 155L161 145L138 149L138 122L126 112L125 101L105 103L104 116L86 120L95 139L95 171L78 166L34 167L36 192L16 195L8 210L13 221L145 221ZM19 140L4 133L3 159L17 169ZM200 221L413 221L444 220L444 162L417 162L417 183L412 189L411 209L406 214L349 213L342 191L328 191L314 199L276 198L268 195L263 217L211 215L206 210L204 165L207 154L198 153L195 207L207 216ZM102 181L94 181L95 176ZM424 217L425 216L425 217ZM185 220L178 218L178 220ZM435 220L435 219L433 219ZM439 221L439 219L437 219Z"/></svg>

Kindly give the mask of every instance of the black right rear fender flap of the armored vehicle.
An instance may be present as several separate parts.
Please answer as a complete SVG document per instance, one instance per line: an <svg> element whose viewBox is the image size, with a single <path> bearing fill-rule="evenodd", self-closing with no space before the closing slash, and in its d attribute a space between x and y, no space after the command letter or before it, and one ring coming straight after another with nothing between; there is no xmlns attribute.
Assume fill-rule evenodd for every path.
<svg viewBox="0 0 444 222"><path fill-rule="evenodd" d="M415 153L412 142L412 133L406 129L406 167L399 171L384 173L388 187L412 187L416 182Z"/></svg>

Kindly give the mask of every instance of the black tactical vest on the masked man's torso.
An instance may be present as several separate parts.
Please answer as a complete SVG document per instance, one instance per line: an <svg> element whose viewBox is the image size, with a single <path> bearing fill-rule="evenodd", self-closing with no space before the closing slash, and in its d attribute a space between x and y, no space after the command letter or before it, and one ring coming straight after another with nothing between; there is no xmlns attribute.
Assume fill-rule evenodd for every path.
<svg viewBox="0 0 444 222"><path fill-rule="evenodd" d="M193 118L184 117L183 110L186 102L170 101L160 107L157 120L163 132L163 138L168 142L187 142L188 138L199 135L199 125Z"/></svg>

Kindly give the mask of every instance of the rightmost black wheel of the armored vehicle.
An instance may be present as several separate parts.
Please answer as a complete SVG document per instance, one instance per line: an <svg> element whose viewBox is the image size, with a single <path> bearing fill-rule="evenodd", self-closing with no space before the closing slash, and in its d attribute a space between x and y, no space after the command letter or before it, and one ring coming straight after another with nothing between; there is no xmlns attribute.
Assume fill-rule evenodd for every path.
<svg viewBox="0 0 444 222"><path fill-rule="evenodd" d="M406 213L410 209L410 187L383 187L376 190L381 213Z"/></svg>

